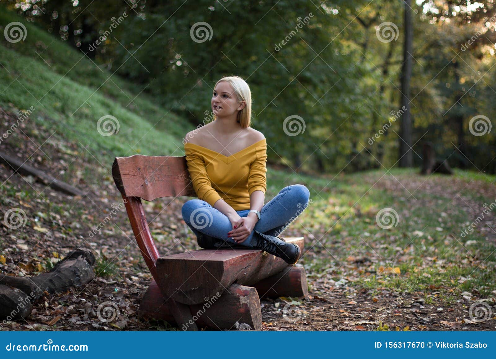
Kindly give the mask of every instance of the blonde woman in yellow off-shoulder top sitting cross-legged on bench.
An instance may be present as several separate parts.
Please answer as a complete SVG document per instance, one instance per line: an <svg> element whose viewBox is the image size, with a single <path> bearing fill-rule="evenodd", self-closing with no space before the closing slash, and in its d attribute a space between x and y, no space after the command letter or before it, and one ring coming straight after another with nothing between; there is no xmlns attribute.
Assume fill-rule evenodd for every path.
<svg viewBox="0 0 496 359"><path fill-rule="evenodd" d="M264 205L267 143L250 127L251 92L244 79L217 81L211 107L214 121L185 137L187 168L198 199L183 205L183 219L202 248L238 244L296 263L300 248L276 235L307 207L309 190L287 186Z"/></svg>

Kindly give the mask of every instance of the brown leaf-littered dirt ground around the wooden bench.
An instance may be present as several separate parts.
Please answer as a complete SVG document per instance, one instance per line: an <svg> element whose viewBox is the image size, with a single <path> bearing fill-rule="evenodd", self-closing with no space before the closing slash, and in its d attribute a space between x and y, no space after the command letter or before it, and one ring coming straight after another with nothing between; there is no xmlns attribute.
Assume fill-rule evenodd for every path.
<svg viewBox="0 0 496 359"><path fill-rule="evenodd" d="M1 116L1 125L5 126L10 115L2 113ZM80 171L85 167L94 168L83 159L91 158L89 154L74 160L80 146L61 145L57 137L52 137L40 151L37 148L41 142L29 135L35 129L30 128L29 123L23 125L18 138L12 137L2 143L1 151L23 160L29 157L26 163L52 175L68 170L69 165ZM36 131L40 138L50 137L49 131ZM12 141L21 141L20 147L14 146ZM30 156L32 153L35 155ZM110 170L111 162L105 166ZM112 272L96 277L86 286L41 298L27 320L1 322L1 330L174 330L164 322L143 322L138 318L140 297L151 276L141 259L124 207L120 207L122 198L110 173L95 170L97 177L103 179L95 185L75 176L70 184L91 190L91 194L84 198L71 197L0 165L0 181L4 193L9 194L2 199L0 212L3 215L10 208L21 208L28 217L27 224L16 230L6 227L3 222L0 225L2 273L36 275L46 269L46 263L56 263L78 247L91 249L99 260L98 269ZM399 186L390 178L384 178L379 185L388 190L398 190ZM463 183L454 184L452 190L456 191L456 187L462 188ZM435 191L435 188L429 190ZM460 203L462 200L456 199ZM144 204L161 254L198 249L194 238L187 234L181 217L184 201L186 198L172 202L162 199L160 205ZM467 203L467 206L475 207L476 204ZM90 237L95 224L115 208L119 211L113 216L112 224ZM301 234L288 232L288 236ZM356 265L360 266L360 263ZM380 295L372 296L367 288L347 287L332 281L312 283L312 287L319 290L310 290L307 298L262 298L263 330L496 330L495 318L473 323L464 320L468 319L470 300L460 299L448 307L436 305L439 299L435 291L432 303L426 304L424 295L402 295L386 288ZM98 305L106 300L117 303L120 310L119 318L111 324L102 323L96 315Z"/></svg>

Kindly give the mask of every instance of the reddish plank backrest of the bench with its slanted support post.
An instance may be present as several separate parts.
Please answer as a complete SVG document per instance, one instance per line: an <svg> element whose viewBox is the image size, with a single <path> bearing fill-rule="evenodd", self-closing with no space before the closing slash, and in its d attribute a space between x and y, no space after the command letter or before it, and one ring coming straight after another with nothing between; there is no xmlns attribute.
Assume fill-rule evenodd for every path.
<svg viewBox="0 0 496 359"><path fill-rule="evenodd" d="M187 170L186 156L116 157L112 176L124 199L127 216L141 254L158 282L156 271L160 257L146 220L141 198L153 201L162 197L197 197Z"/></svg>

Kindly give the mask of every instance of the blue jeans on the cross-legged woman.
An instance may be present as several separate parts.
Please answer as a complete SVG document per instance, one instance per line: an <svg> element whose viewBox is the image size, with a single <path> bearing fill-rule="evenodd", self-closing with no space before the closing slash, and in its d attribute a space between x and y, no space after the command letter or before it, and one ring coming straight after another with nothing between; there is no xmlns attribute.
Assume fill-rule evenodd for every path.
<svg viewBox="0 0 496 359"><path fill-rule="evenodd" d="M284 187L272 200L266 203L261 218L255 223L253 230L278 236L298 215L308 206L310 191L304 185ZM207 202L200 199L187 201L181 210L183 219L198 237L201 233L220 238L232 244L238 244L233 238L228 238L227 232L233 229L229 218ZM240 217L246 217L248 210L236 211ZM253 247L251 239L253 231L240 245Z"/></svg>

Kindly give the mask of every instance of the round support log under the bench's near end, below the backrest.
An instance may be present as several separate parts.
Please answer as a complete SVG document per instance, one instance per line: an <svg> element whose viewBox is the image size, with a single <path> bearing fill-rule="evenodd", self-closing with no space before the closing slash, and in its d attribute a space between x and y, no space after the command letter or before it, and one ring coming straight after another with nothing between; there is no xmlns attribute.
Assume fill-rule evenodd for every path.
<svg viewBox="0 0 496 359"><path fill-rule="evenodd" d="M254 330L262 329L260 300L253 287L233 284L219 297L211 297L202 304L189 305L189 308L194 323L200 327L232 329L239 322L248 324ZM138 316L144 320L163 319L182 330L189 330L191 326L188 322L177 322L155 281L151 282L141 298Z"/></svg>

